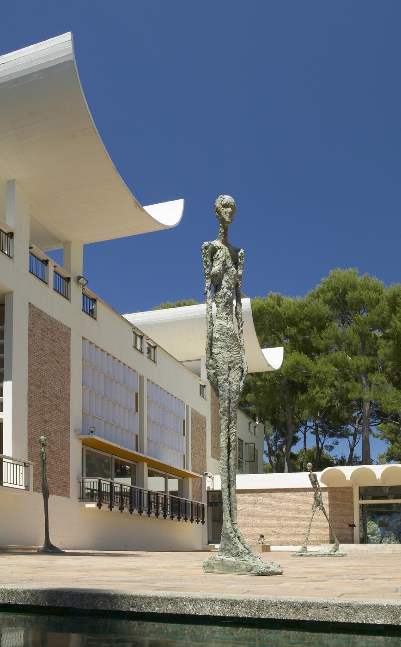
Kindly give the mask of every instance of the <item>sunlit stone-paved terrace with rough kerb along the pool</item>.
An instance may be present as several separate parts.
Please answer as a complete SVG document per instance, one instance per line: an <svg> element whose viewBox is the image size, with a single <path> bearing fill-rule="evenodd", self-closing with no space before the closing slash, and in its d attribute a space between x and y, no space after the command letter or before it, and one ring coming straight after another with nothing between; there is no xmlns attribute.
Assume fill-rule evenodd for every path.
<svg viewBox="0 0 401 647"><path fill-rule="evenodd" d="M281 576L203 573L210 553L0 553L0 604L401 624L401 565L391 554L340 560L263 555Z"/></svg>

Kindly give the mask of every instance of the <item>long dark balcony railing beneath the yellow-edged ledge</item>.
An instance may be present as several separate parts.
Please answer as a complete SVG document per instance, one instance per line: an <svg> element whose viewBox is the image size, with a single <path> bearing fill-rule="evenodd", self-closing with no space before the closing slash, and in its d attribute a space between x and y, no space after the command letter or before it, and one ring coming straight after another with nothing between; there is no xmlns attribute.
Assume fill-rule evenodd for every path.
<svg viewBox="0 0 401 647"><path fill-rule="evenodd" d="M182 499L179 496L144 490L135 485L126 485L107 479L80 478L80 501L96 503L100 509L106 505L109 510L114 507L120 512L124 509L131 514L154 515L164 519L177 519L193 523L204 523L204 504L198 501Z"/></svg>

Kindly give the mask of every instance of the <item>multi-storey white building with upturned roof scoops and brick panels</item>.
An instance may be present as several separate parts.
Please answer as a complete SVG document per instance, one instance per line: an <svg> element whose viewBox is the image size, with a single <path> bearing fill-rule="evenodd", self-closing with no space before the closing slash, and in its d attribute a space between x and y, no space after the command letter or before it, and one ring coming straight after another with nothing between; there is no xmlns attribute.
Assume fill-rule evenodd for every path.
<svg viewBox="0 0 401 647"><path fill-rule="evenodd" d="M0 57L0 545L195 549L219 416L204 375L204 312L124 318L82 277L83 245L176 226L184 202L142 207L118 175L64 34ZM49 256L63 248L63 265ZM89 283L90 285L90 283ZM182 311L188 309L182 309ZM244 303L251 370L275 368ZM180 347L171 344L175 319ZM202 338L203 336L203 338ZM184 349L182 355L180 349ZM282 352L281 352L282 357ZM270 364L268 364L270 362ZM263 470L263 429L239 413L239 473Z"/></svg>

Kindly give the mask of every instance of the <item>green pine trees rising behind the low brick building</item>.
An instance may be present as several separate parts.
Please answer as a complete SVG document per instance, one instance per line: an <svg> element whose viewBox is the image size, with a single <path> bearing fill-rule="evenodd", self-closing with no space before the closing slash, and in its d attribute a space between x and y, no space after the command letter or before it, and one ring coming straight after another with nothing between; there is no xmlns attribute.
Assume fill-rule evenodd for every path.
<svg viewBox="0 0 401 647"><path fill-rule="evenodd" d="M400 284L388 288L356 269L336 269L303 298L255 298L252 314L261 347L284 347L281 369L248 375L240 400L264 425L265 470L356 465L360 448L369 465L372 428L387 443L380 461L401 462ZM341 439L349 450L336 457Z"/></svg>

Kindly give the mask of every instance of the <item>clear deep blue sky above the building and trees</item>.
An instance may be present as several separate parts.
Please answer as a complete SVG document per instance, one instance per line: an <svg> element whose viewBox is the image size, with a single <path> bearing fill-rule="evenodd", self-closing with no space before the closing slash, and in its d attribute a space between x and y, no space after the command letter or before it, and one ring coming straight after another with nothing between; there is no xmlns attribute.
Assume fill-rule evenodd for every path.
<svg viewBox="0 0 401 647"><path fill-rule="evenodd" d="M14 0L1 53L69 30L124 181L141 204L186 201L177 228L85 247L114 308L202 300L220 193L247 296L302 295L334 267L401 280L398 0Z"/></svg>

